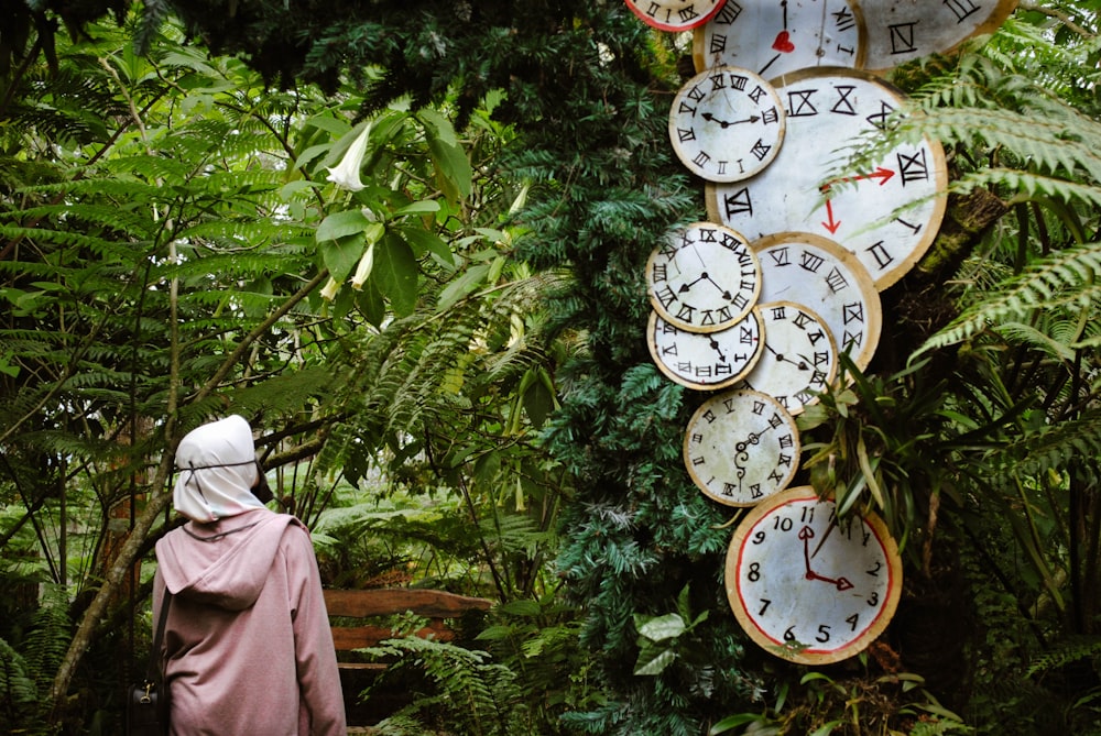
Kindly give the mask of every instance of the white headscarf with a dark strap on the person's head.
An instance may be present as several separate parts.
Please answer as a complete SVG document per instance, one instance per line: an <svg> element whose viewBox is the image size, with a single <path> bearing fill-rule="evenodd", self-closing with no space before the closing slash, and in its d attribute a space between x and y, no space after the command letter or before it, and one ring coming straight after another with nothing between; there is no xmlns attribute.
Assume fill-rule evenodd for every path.
<svg viewBox="0 0 1101 736"><path fill-rule="evenodd" d="M176 510L199 524L264 505L252 495L259 480L252 428L237 415L197 427L176 448Z"/></svg>

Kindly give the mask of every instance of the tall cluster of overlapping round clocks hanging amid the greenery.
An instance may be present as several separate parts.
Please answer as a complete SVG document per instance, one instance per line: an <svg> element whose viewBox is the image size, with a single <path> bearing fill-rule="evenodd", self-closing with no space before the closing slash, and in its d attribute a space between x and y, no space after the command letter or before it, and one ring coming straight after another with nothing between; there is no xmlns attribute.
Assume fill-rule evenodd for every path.
<svg viewBox="0 0 1101 736"><path fill-rule="evenodd" d="M793 482L795 417L869 366L880 294L925 254L945 213L947 165L929 138L885 142L905 96L881 76L996 30L1016 0L625 0L690 33L695 76L669 142L705 183L707 220L677 227L646 263L647 344L669 380L708 392L683 457L710 499L746 507L727 595L751 639L791 661L851 657L887 626L898 549L873 513L839 518Z"/></svg>

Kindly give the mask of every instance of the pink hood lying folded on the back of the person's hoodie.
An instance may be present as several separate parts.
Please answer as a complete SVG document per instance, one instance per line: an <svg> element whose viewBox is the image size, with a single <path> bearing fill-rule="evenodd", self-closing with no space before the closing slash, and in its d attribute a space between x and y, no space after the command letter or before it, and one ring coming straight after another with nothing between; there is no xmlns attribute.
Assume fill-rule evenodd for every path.
<svg viewBox="0 0 1101 736"><path fill-rule="evenodd" d="M298 519L266 508L218 524L188 523L156 542L156 562L173 595L229 611L257 602L287 526Z"/></svg>

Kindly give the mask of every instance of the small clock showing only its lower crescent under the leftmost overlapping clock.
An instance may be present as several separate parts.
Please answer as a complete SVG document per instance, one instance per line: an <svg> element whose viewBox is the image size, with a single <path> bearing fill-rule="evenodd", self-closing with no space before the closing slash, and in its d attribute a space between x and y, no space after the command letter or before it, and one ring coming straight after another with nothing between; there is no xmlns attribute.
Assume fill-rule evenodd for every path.
<svg viewBox="0 0 1101 736"><path fill-rule="evenodd" d="M658 370L669 380L701 391L726 388L761 358L761 314L751 309L732 327L716 332L688 332L650 314L646 342Z"/></svg>

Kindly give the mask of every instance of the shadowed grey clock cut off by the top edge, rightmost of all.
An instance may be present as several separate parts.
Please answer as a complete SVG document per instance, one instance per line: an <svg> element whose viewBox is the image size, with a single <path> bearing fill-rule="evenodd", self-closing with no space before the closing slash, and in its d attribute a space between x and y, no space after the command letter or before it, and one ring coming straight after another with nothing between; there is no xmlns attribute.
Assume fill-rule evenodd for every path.
<svg viewBox="0 0 1101 736"><path fill-rule="evenodd" d="M944 54L972 36L993 33L1017 0L862 0L868 28L865 67L887 72L927 54Z"/></svg>

